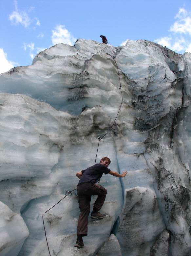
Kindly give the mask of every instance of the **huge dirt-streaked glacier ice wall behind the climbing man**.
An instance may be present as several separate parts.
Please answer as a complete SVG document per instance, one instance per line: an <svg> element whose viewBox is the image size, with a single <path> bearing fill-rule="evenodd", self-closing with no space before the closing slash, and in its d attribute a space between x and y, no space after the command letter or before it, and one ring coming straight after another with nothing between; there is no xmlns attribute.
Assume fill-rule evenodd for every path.
<svg viewBox="0 0 191 256"><path fill-rule="evenodd" d="M191 253L191 54L146 40L113 47L79 39L74 47L57 44L40 52L32 65L0 75L0 201L20 216L20 227L26 225L14 255L47 256L42 214L76 188L77 171L94 164L97 138L109 129L121 103L120 82L123 104L100 141L97 162L106 155L110 169L128 174L102 177L107 216L89 220L83 249L73 247L79 215L75 193L46 213L50 251ZM7 220L0 218L9 233ZM10 241L12 247L1 242L0 256L16 248L18 242L11 236Z"/></svg>

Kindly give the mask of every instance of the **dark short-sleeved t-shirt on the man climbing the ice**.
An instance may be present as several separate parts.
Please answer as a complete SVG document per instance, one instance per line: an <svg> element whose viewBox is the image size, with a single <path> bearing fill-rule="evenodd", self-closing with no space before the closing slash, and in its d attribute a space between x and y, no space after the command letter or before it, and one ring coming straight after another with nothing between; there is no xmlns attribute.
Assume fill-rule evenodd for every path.
<svg viewBox="0 0 191 256"><path fill-rule="evenodd" d="M86 170L82 171L83 175L78 185L88 181L92 181L93 183L96 183L101 179L103 173L107 174L109 172L110 172L110 169L102 164L96 164L96 165L90 166Z"/></svg>

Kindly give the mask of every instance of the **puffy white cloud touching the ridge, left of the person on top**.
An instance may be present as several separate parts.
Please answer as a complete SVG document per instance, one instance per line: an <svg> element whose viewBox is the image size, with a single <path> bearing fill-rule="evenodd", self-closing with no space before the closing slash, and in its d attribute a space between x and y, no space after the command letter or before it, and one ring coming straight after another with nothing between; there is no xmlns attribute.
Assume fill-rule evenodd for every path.
<svg viewBox="0 0 191 256"><path fill-rule="evenodd" d="M65 28L64 25L57 25L55 30L52 30L52 43L66 43L73 45L77 40L72 34Z"/></svg>

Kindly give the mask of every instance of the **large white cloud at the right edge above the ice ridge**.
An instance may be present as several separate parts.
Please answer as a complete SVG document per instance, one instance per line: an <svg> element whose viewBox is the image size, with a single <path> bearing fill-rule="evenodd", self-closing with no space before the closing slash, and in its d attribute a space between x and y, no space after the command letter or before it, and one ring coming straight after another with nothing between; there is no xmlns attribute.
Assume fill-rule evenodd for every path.
<svg viewBox="0 0 191 256"><path fill-rule="evenodd" d="M191 48L191 13L185 8L180 8L176 14L177 19L170 27L169 35L154 40L175 52L190 52Z"/></svg>

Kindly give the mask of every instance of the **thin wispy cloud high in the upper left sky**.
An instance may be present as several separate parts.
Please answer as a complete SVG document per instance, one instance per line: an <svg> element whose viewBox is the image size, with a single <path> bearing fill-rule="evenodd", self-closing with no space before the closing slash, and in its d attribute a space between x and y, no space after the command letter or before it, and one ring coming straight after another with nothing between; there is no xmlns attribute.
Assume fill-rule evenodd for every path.
<svg viewBox="0 0 191 256"><path fill-rule="evenodd" d="M40 26L40 21L38 18L33 18L31 19L29 17L29 12L31 12L32 10L34 10L34 7L31 6L27 11L21 11L18 9L18 3L17 0L14 0L14 6L15 6L15 11L13 11L10 15L9 15L9 20L11 21L12 25L19 25L21 24L22 26L24 26L25 28L28 28L29 25L34 22L34 20L36 20L36 26Z"/></svg>

